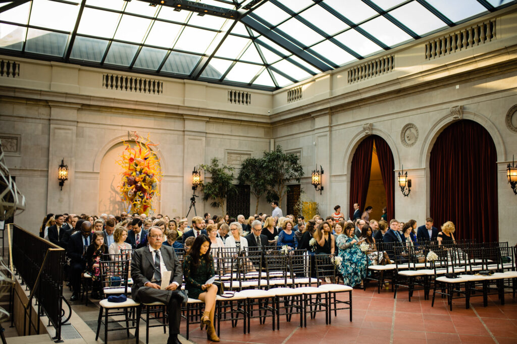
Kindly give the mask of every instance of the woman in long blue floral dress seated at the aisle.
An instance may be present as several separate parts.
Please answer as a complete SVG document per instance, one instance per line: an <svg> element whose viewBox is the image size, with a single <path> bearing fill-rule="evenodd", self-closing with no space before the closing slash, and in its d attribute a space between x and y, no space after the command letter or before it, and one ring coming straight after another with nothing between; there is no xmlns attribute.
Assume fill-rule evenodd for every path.
<svg viewBox="0 0 517 344"><path fill-rule="evenodd" d="M343 275L345 286L354 287L361 285L366 277L366 254L359 248L359 239L355 236L354 225L347 223L337 239L339 257L342 258L339 272Z"/></svg>

